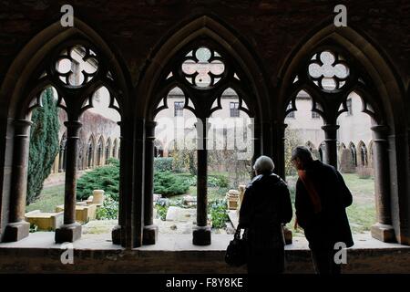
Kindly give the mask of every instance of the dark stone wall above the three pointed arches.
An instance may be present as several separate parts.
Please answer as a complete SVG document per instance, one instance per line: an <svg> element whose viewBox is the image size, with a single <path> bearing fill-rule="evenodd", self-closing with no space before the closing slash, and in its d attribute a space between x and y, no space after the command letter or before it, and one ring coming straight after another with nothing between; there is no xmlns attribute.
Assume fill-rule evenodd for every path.
<svg viewBox="0 0 410 292"><path fill-rule="evenodd" d="M256 50L271 86L279 80L286 57L300 42L333 21L333 1L0 1L0 81L15 56L46 26L59 20L61 5L74 6L75 16L87 22L109 46L120 52L133 83L140 78L147 58L161 39L184 20L200 14L223 19ZM348 26L383 47L398 73L408 79L410 67L410 3L395 0L344 1ZM1 82L0 82L1 83Z"/></svg>

